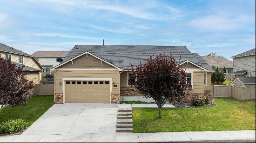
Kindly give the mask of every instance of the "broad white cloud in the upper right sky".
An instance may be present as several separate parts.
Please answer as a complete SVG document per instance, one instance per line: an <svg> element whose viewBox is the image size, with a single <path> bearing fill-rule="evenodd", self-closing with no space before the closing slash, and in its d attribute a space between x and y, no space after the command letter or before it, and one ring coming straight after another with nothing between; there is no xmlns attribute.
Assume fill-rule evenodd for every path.
<svg viewBox="0 0 256 143"><path fill-rule="evenodd" d="M250 20L248 15L238 15L235 18L225 15L208 15L189 21L189 25L202 30L233 30L242 27Z"/></svg>

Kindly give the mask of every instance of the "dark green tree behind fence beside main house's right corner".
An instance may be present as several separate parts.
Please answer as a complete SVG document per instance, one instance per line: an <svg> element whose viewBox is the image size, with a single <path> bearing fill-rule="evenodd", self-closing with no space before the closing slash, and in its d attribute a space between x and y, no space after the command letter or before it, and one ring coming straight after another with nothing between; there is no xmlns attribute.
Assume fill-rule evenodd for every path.
<svg viewBox="0 0 256 143"><path fill-rule="evenodd" d="M212 66L214 73L211 75L211 82L216 83L217 85L225 81L225 74L223 70L219 67Z"/></svg>

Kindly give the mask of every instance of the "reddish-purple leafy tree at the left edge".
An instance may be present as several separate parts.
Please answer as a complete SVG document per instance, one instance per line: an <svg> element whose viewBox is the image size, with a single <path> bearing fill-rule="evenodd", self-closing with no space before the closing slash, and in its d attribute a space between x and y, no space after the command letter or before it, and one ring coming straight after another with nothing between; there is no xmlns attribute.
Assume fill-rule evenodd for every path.
<svg viewBox="0 0 256 143"><path fill-rule="evenodd" d="M34 84L25 78L27 72L22 71L23 67L16 67L0 56L0 106L27 104L27 95Z"/></svg>

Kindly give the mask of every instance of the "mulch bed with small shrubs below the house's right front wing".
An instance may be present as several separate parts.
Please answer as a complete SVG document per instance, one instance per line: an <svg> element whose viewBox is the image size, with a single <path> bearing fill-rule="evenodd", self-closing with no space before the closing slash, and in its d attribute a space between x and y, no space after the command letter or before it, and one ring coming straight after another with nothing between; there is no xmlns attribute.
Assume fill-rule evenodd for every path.
<svg viewBox="0 0 256 143"><path fill-rule="evenodd" d="M216 104L213 102L215 98L209 97L209 103L205 103L204 107L201 106L194 106L192 103L184 103L184 102L176 102L173 103L173 106L176 108L207 108L207 107L215 107Z"/></svg>

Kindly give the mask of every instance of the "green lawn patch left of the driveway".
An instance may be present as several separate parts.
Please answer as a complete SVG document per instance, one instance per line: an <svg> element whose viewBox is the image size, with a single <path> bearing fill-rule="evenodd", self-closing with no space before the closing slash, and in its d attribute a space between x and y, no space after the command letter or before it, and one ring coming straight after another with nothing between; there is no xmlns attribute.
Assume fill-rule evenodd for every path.
<svg viewBox="0 0 256 143"><path fill-rule="evenodd" d="M53 101L53 95L36 96L28 100L27 106L3 107L0 109L0 124L7 119L21 118L30 126L53 106Z"/></svg>

